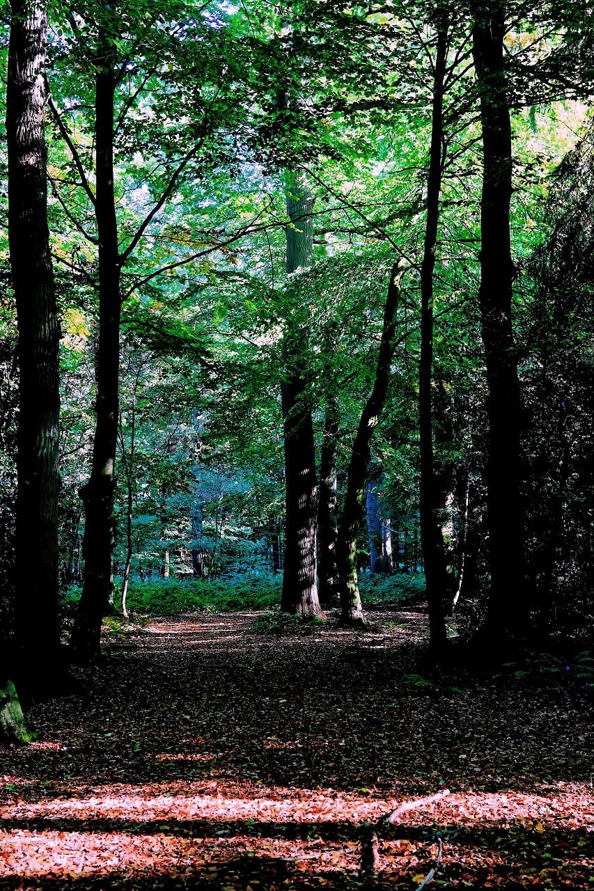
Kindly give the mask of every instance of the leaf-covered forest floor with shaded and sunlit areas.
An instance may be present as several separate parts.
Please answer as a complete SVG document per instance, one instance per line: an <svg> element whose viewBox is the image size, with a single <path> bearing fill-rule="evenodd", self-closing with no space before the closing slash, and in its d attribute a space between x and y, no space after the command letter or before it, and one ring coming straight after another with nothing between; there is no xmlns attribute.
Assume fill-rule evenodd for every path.
<svg viewBox="0 0 594 891"><path fill-rule="evenodd" d="M418 607L375 631L257 615L111 625L78 692L0 753L0 887L594 887L591 701L419 667ZM449 789L380 830L362 824ZM440 835L441 834L441 835Z"/></svg>

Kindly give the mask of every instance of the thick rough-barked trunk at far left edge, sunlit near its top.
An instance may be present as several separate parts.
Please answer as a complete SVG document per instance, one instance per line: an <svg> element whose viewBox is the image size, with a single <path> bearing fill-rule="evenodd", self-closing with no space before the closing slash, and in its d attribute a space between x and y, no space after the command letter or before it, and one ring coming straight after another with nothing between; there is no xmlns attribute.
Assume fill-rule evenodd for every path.
<svg viewBox="0 0 594 891"><path fill-rule="evenodd" d="M60 325L47 228L46 37L45 7L14 0L6 88L8 228L20 367L14 667L37 691L53 683L60 652Z"/></svg>

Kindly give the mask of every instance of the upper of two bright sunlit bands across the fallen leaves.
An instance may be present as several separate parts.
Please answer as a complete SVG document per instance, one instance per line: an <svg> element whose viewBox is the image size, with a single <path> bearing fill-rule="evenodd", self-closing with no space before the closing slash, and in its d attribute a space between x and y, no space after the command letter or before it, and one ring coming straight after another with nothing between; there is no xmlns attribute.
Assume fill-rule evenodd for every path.
<svg viewBox="0 0 594 891"><path fill-rule="evenodd" d="M163 756L169 759L170 756ZM175 755L173 756L175 757ZM190 756L192 757L192 756ZM200 760L208 756L195 756ZM582 828L594 831L594 800L591 790L583 784L570 792L556 790L546 795L458 793L441 801L417 807L415 824L456 824L498 822L507 827L509 822L540 831L555 822L565 829ZM113 788L94 789L90 797L67 799L46 798L37 803L20 802L0 807L3 820L209 820L234 822L253 820L258 822L353 822L375 820L391 811L400 802L396 798L361 797L319 790L262 789L262 797L224 795L222 789L214 794L196 794L192 784L177 789L177 794L154 794L158 789ZM247 791L247 790L246 790ZM410 817L402 822L410 822Z"/></svg>

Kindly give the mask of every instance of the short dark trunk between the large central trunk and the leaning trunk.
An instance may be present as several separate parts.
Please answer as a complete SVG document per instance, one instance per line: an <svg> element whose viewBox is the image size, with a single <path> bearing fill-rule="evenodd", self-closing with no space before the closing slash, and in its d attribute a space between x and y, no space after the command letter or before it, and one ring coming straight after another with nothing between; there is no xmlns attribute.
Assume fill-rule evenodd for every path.
<svg viewBox="0 0 594 891"><path fill-rule="evenodd" d="M334 395L328 396L324 438L319 465L318 495L318 579L319 599L326 606L338 596L336 567L336 449L338 441L338 405Z"/></svg>

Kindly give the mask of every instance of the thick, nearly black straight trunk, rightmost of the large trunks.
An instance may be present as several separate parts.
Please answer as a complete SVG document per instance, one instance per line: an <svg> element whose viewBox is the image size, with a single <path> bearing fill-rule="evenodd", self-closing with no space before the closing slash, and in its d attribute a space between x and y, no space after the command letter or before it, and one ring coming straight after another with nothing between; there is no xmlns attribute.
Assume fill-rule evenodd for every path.
<svg viewBox="0 0 594 891"><path fill-rule="evenodd" d="M509 202L512 143L504 72L504 4L474 22L474 67L481 97L483 194L479 302L487 366L487 523L491 590L483 634L496 649L528 630L520 501L520 387L512 330Z"/></svg>

